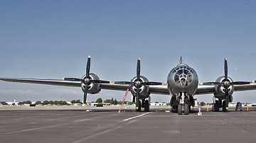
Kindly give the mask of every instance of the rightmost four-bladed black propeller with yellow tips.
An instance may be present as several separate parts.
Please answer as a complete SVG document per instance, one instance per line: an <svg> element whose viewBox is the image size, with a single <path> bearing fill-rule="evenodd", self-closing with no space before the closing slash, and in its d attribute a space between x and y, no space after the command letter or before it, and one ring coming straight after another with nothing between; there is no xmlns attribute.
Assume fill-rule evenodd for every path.
<svg viewBox="0 0 256 143"><path fill-rule="evenodd" d="M228 87L233 85L244 85L251 84L251 82L247 81L228 81L228 59L224 60L224 77L225 79L222 82L205 82L203 85L220 85L225 88L225 110L228 110L229 96L228 96Z"/></svg>

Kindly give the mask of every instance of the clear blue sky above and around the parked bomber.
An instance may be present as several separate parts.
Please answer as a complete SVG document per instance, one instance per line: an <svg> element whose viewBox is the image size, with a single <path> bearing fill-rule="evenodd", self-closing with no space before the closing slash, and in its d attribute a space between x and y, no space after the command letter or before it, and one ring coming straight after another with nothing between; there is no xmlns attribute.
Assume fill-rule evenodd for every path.
<svg viewBox="0 0 256 143"><path fill-rule="evenodd" d="M256 80L256 1L7 1L0 0L0 76L82 77L87 56L100 79L129 81L142 75L166 82L179 57L199 81L223 75L224 57L234 81ZM0 101L70 101L80 88L0 82ZM124 92L88 96L122 100ZM130 94L128 99L130 100ZM213 95L196 96L210 102ZM256 102L256 91L234 101ZM169 96L151 95L168 102Z"/></svg>

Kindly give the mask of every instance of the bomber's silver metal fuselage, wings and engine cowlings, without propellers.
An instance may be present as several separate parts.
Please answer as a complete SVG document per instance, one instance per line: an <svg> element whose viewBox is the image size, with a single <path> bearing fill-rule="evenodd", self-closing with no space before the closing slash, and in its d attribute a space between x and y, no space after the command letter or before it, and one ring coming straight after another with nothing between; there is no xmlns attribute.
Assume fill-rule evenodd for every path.
<svg viewBox="0 0 256 143"><path fill-rule="evenodd" d="M90 73L90 79L99 80L100 78L96 74ZM216 82L222 83L225 76L220 76ZM46 84L54 86L74 86L82 88L82 91L85 90L85 76L82 76L82 81L68 81L61 79L26 79L26 78L0 78L2 81L10 82L20 82L28 84ZM137 80L137 77L134 77L132 81ZM139 81L136 82L147 82L149 81L146 77L141 76ZM255 81L252 81L250 84L242 85L233 85L233 79L228 77L228 81L223 82L223 86L228 86L228 96L230 101L232 101L232 94L234 91L249 91L255 90L256 84ZM126 91L129 84L97 84L89 83L88 84L88 93L95 94L99 93L101 89L115 90L115 91ZM136 86L136 85L135 85ZM220 101L225 100L225 88L221 85L203 85L198 84L198 75L196 71L189 67L187 64L182 63L182 58L180 59L180 64L178 64L174 69L171 69L169 75L167 76L167 83L164 85L140 85L139 87L139 99L150 98L151 93L155 94L164 94L171 96L171 106L177 108L178 105L182 105L182 110L184 113L188 105L193 106L193 96L199 94L208 94L213 93L213 98L218 98ZM132 95L136 96L137 89L132 86L131 88ZM221 105L221 103L219 104Z"/></svg>

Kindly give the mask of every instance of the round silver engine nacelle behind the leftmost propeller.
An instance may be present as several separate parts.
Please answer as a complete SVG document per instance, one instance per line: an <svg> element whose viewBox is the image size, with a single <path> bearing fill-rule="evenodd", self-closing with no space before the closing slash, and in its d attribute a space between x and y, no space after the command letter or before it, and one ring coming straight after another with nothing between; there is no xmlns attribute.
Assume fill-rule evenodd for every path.
<svg viewBox="0 0 256 143"><path fill-rule="evenodd" d="M85 92L85 83L84 83L85 78L86 78L86 75L82 76L82 82L81 82L82 92ZM96 74L90 73L89 79L90 80L99 80L100 78ZM100 90L101 90L100 84L89 82L87 93L96 94L96 93L99 93Z"/></svg>

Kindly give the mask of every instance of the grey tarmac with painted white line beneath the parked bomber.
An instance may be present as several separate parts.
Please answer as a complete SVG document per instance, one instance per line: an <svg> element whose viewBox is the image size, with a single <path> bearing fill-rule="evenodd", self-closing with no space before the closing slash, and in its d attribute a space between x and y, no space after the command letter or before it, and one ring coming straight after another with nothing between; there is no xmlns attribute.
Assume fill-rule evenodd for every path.
<svg viewBox="0 0 256 143"><path fill-rule="evenodd" d="M133 108L133 107L132 107ZM255 142L256 111L0 106L0 142Z"/></svg>

